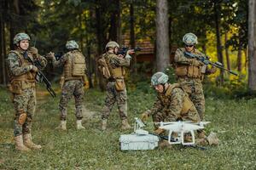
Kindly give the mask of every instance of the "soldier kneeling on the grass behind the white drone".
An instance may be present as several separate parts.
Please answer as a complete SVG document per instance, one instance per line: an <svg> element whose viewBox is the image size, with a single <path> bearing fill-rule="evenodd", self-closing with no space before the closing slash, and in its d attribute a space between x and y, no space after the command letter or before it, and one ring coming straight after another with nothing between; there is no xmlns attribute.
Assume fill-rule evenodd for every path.
<svg viewBox="0 0 256 170"><path fill-rule="evenodd" d="M145 121L148 116L152 116L153 122L201 122L195 105L193 105L192 101L189 99L188 94L184 92L183 88L181 88L178 83L168 83L168 76L165 73L155 73L153 77L151 77L151 84L158 92L158 96L152 109L142 114L143 121ZM160 134L165 132L165 130L159 128L157 124L154 124L154 127L154 133ZM172 133L172 135L175 136L177 134ZM165 146L167 143L166 140L162 142L160 146ZM213 133L203 138L200 142L203 144L218 144L218 139Z"/></svg>

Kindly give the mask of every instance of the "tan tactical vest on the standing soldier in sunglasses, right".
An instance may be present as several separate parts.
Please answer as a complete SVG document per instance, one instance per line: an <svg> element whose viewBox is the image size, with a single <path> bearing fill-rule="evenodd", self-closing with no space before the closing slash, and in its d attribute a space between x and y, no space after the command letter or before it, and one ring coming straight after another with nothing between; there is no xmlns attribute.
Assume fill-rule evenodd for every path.
<svg viewBox="0 0 256 170"><path fill-rule="evenodd" d="M180 48L181 51L185 51L185 48ZM194 54L201 54L199 50L195 49ZM196 59L195 59L196 60ZM177 63L175 65L175 74L177 77L189 77L189 78L200 78L203 79L206 73L206 65L182 65Z"/></svg>

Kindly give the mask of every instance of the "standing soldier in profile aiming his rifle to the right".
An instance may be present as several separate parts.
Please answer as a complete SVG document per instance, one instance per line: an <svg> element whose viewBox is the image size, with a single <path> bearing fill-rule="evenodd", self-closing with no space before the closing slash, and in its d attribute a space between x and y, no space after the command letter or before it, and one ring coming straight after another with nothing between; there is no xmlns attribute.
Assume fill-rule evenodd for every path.
<svg viewBox="0 0 256 170"><path fill-rule="evenodd" d="M127 94L125 88L125 66L130 65L133 50L128 50L125 56L118 55L119 44L117 42L108 42L106 45L106 53L102 55L106 59L110 77L107 84L107 97L102 111L102 130L107 129L107 120L110 111L115 102L119 109L119 116L122 120L121 129L129 129L131 126L127 120Z"/></svg>

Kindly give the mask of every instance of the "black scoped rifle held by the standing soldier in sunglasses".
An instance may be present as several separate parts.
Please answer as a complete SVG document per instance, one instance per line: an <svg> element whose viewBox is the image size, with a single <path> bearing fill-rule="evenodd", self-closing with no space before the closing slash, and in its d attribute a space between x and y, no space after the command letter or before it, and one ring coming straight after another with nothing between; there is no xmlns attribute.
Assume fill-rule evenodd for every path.
<svg viewBox="0 0 256 170"><path fill-rule="evenodd" d="M224 70L224 71L228 71L230 74L235 75L236 77L238 76L238 74L236 72L230 71L230 70L224 68L222 63L220 63L218 61L216 61L216 62L210 61L208 56L206 56L206 57L198 56L198 55L189 53L187 51L184 52L184 55L185 55L185 57L189 57L191 59L197 59L197 60L201 61L205 65L212 65L212 66L217 67L218 69L221 69L221 70Z"/></svg>

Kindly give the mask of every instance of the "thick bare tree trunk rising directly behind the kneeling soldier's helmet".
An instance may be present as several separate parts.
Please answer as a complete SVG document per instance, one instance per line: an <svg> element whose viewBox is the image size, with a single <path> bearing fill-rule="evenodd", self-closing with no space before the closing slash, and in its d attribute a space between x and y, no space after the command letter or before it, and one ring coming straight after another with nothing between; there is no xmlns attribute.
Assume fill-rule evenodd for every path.
<svg viewBox="0 0 256 170"><path fill-rule="evenodd" d="M156 1L156 69L165 71L170 63L167 0Z"/></svg>

